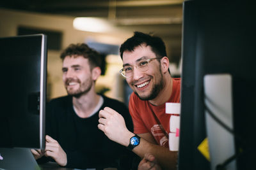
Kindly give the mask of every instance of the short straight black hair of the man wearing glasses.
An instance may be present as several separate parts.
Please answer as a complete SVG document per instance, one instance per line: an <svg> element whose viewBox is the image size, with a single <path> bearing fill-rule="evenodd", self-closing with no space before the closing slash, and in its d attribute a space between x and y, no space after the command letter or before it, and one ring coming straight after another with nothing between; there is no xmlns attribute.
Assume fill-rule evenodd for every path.
<svg viewBox="0 0 256 170"><path fill-rule="evenodd" d="M134 35L127 39L120 47L120 55L123 59L124 51L128 50L132 52L136 46L140 46L145 44L146 46L151 46L152 52L156 54L157 57L164 57L166 55L166 48L164 45L164 41L157 37L151 36L150 34L145 34L143 32L134 32Z"/></svg>

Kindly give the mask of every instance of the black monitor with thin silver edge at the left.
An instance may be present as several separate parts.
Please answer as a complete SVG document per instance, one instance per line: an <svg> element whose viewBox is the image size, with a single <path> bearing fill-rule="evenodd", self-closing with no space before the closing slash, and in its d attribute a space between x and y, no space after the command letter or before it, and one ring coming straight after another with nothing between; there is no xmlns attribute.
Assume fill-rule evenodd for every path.
<svg viewBox="0 0 256 170"><path fill-rule="evenodd" d="M47 41L0 38L0 148L44 148Z"/></svg>

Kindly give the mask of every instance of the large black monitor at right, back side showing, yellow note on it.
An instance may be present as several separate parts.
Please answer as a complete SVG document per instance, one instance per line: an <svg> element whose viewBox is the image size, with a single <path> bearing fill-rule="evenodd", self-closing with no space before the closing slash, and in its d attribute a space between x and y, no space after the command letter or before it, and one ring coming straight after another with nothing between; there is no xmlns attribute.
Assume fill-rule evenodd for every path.
<svg viewBox="0 0 256 170"><path fill-rule="evenodd" d="M254 10L246 1L184 2L180 170L256 169ZM227 80L228 85L217 79L207 81L214 76L224 77L220 83ZM220 89L216 90L217 86ZM221 92L224 87L228 88ZM217 103L223 99L221 104L230 103L228 123L227 117L218 115L218 105L210 106L216 104L208 96L214 90L214 96L220 97ZM228 96L224 95L227 91ZM226 112L222 113L225 116ZM220 131L212 131L216 127ZM203 150L198 146L204 146ZM230 155L220 159L227 148Z"/></svg>

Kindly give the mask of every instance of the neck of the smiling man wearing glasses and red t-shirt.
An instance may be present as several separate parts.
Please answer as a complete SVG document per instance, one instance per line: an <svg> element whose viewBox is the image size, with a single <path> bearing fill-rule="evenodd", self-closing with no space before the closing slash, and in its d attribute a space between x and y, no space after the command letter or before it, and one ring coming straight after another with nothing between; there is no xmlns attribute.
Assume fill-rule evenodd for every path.
<svg viewBox="0 0 256 170"><path fill-rule="evenodd" d="M169 74L170 75L170 74ZM164 104L170 99L170 96L172 95L172 86L173 86L173 80L171 76L164 77L164 87L161 89L159 94L157 94L157 97L153 100L150 100L149 103L153 104L154 106L159 106L161 104Z"/></svg>

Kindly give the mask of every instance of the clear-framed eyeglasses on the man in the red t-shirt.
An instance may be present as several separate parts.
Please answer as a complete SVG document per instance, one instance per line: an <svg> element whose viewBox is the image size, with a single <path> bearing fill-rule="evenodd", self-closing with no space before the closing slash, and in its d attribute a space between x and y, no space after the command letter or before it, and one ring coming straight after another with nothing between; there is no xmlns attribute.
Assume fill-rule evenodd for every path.
<svg viewBox="0 0 256 170"><path fill-rule="evenodd" d="M162 58L157 57L152 59L140 60L140 62L138 62L134 67L137 67L137 69L141 72L147 71L149 62L154 59L162 59ZM134 70L133 66L125 66L124 68L120 69L119 73L121 73L122 76L124 76L125 78L130 78L133 74L133 70Z"/></svg>

